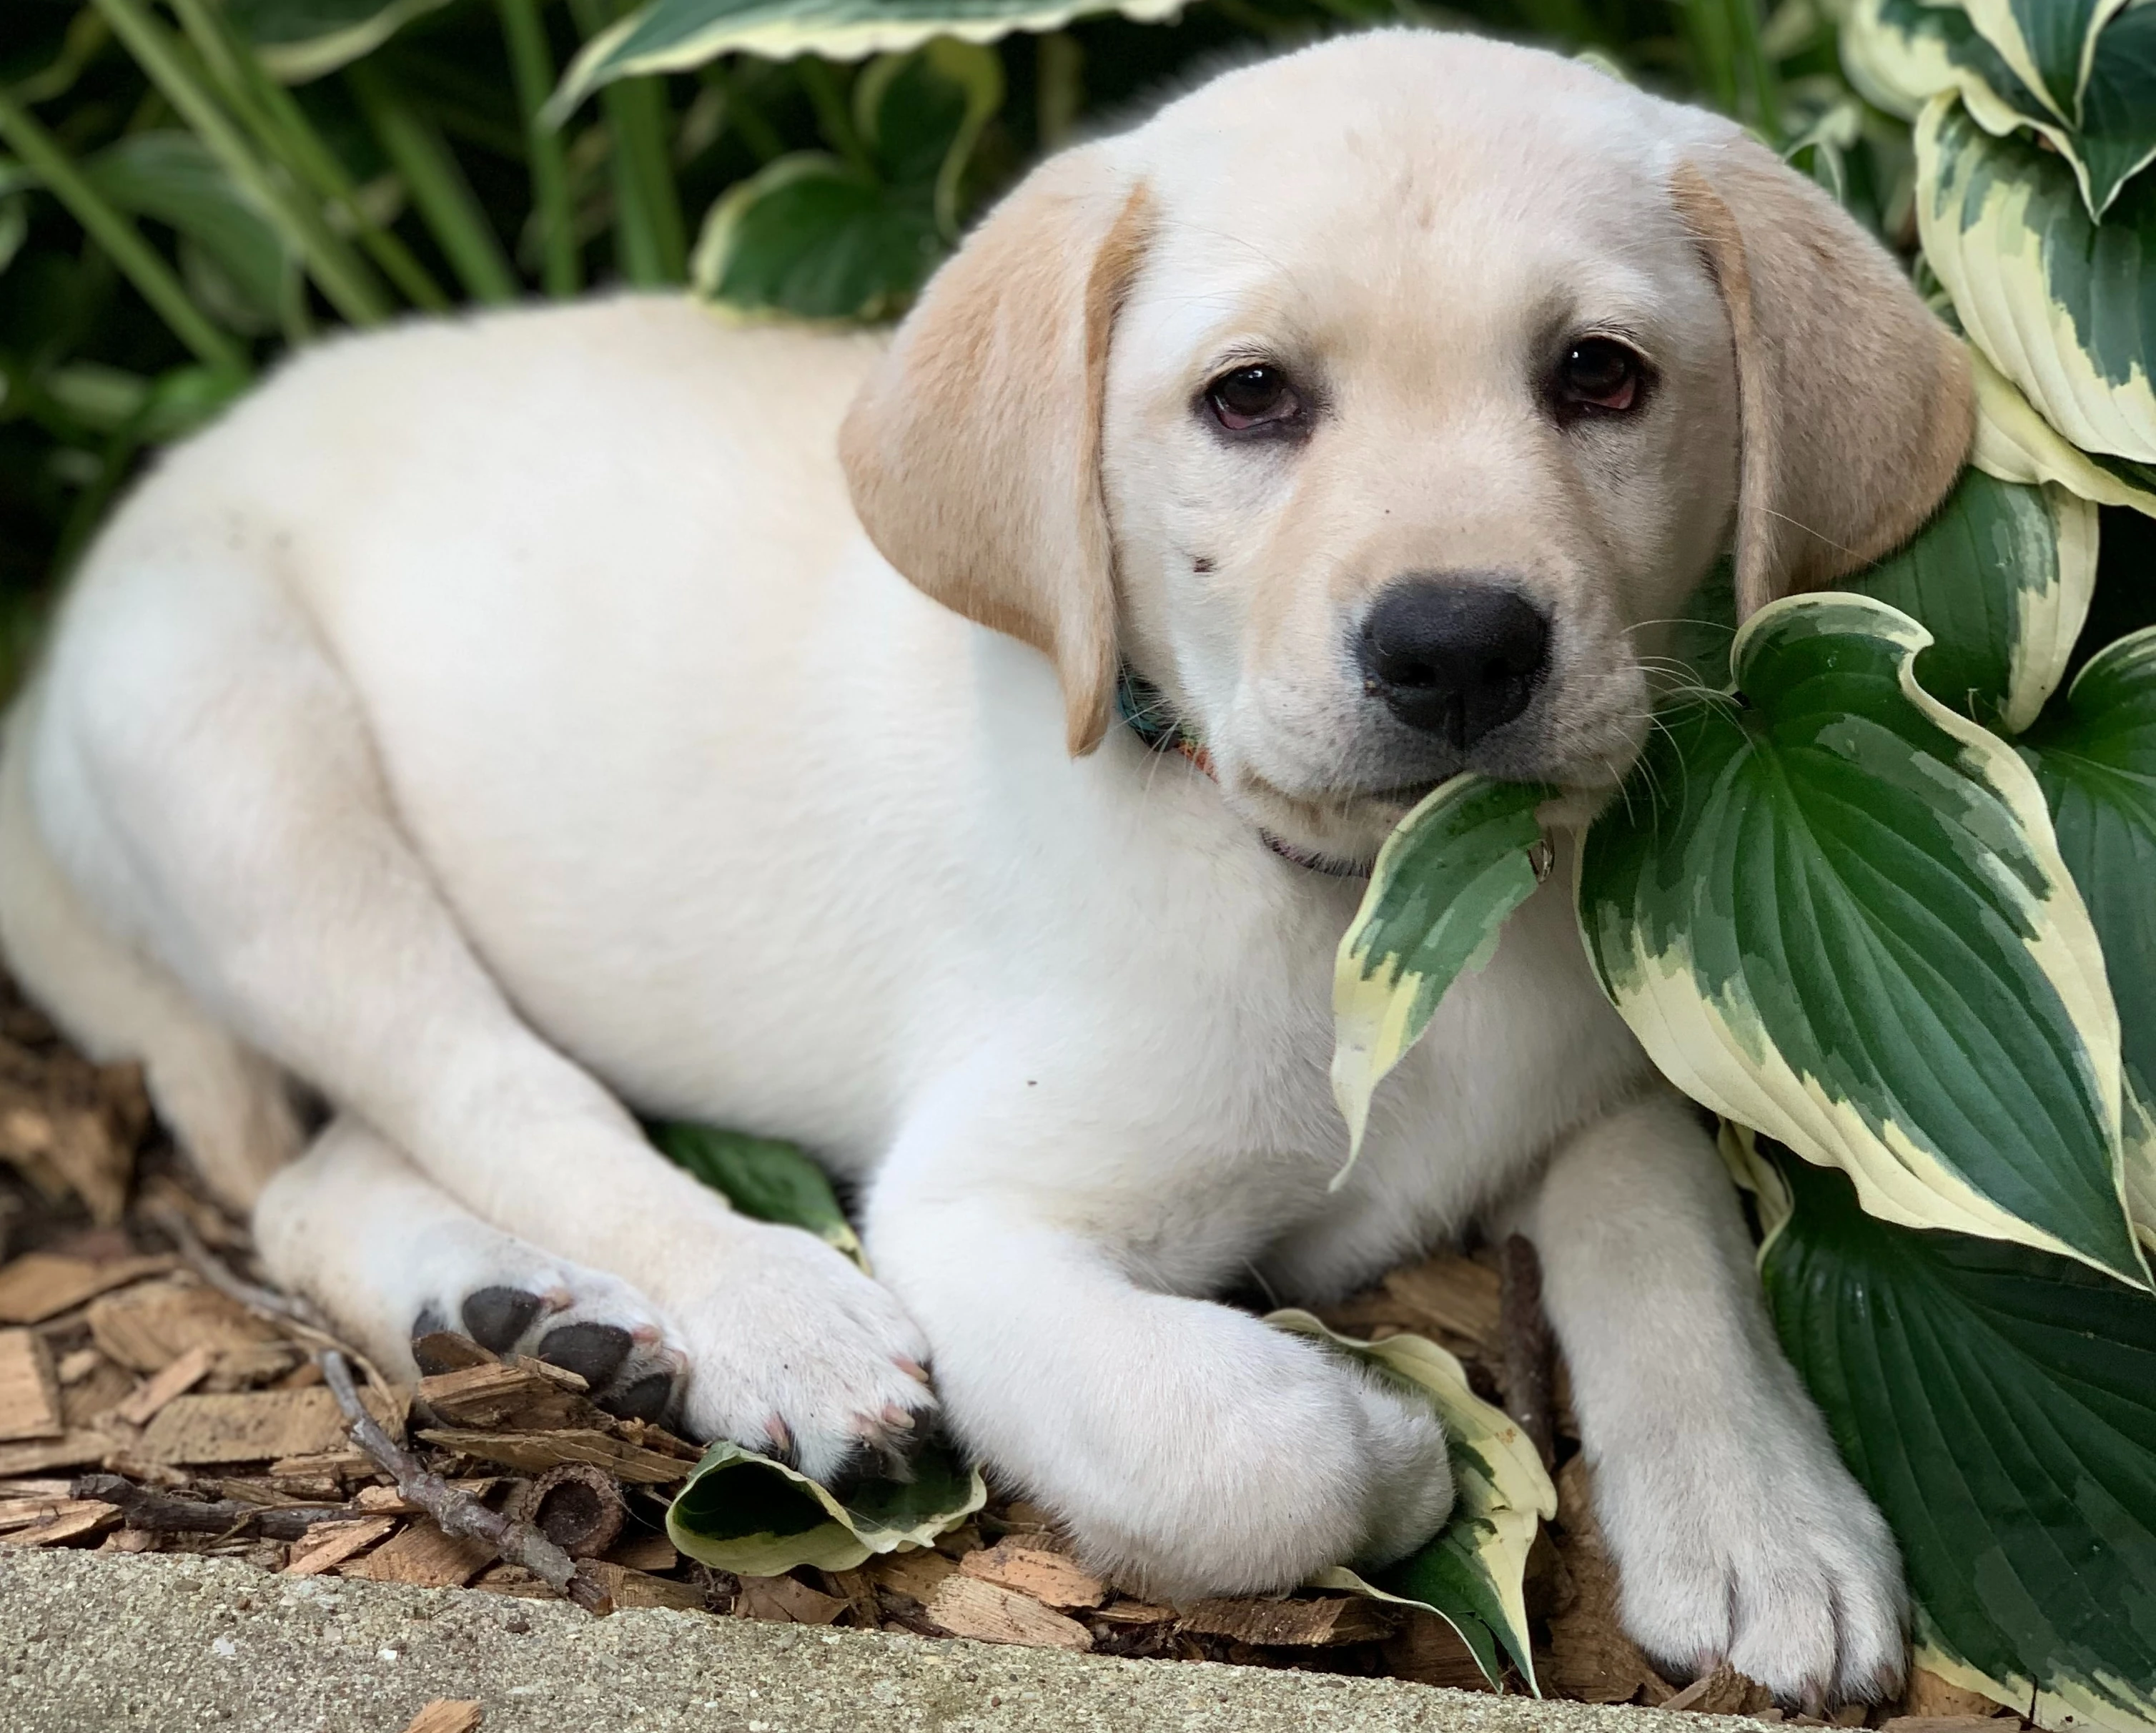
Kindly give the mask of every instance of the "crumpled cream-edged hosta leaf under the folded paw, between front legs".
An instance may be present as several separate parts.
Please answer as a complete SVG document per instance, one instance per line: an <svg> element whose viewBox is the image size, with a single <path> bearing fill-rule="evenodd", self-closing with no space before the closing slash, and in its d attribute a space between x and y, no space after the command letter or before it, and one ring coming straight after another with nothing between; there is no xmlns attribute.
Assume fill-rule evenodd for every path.
<svg viewBox="0 0 2156 1733"><path fill-rule="evenodd" d="M1518 1423L1468 1388L1466 1369L1423 1336L1363 1343L1337 1336L1309 1313L1272 1313L1268 1323L1317 1336L1427 1397L1445 1423L1453 1468L1453 1513L1423 1548L1363 1576L1335 1567L1313 1589L1348 1589L1382 1602L1421 1606L1460 1632L1490 1683L1505 1658L1535 1686L1526 1645L1526 1552L1537 1524L1557 1515L1557 1487Z"/></svg>

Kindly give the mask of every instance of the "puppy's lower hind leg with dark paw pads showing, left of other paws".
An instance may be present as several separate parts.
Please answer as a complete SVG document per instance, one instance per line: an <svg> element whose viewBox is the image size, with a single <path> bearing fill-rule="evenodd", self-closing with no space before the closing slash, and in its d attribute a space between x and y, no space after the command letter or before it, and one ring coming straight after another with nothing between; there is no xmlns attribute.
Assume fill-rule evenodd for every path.
<svg viewBox="0 0 2156 1733"><path fill-rule="evenodd" d="M354 1119L334 1121L254 1205L270 1272L412 1377L412 1343L461 1330L496 1354L580 1373L593 1399L655 1420L688 1367L627 1283L487 1226Z"/></svg>

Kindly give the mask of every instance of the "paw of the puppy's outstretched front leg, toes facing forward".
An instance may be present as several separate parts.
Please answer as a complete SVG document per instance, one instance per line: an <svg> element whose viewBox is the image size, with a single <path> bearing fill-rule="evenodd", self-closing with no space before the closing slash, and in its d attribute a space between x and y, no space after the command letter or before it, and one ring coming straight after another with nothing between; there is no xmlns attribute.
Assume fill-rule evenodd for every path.
<svg viewBox="0 0 2156 1733"><path fill-rule="evenodd" d="M1902 1556L1815 1423L1613 1453L1595 1507L1623 1623L1662 1670L1729 1662L1811 1711L1899 1683Z"/></svg>

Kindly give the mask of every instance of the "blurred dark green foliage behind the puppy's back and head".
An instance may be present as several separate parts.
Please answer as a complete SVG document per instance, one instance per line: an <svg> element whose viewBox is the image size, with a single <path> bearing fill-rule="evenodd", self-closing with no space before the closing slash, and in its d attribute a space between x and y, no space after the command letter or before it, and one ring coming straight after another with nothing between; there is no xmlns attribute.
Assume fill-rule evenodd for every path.
<svg viewBox="0 0 2156 1733"><path fill-rule="evenodd" d="M1843 80L1824 0L1192 0L1160 22L1102 9L987 45L718 52L561 88L589 43L681 4L627 26L617 0L0 0L0 690L129 474L289 345L608 285L893 317L1041 151L1343 28L1595 56L1736 114L1915 244L1906 127ZM688 6L791 13L796 39L834 47L834 13L873 34L938 11ZM1132 4L1147 9L1164 6ZM1054 15L946 11L985 28ZM548 110L556 91L567 112Z"/></svg>

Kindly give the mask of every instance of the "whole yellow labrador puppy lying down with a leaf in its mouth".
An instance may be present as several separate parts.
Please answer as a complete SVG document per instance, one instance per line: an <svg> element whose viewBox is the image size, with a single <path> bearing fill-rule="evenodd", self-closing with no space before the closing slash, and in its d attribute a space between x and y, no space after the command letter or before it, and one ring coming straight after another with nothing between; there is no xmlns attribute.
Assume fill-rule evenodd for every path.
<svg viewBox="0 0 2156 1733"><path fill-rule="evenodd" d="M1335 41L1048 162L895 341L623 297L293 362L88 560L0 935L386 1362L461 1326L821 1476L940 1399L1158 1595L1451 1500L1427 1412L1205 1295L1516 1226L1632 1632L1861 1696L1893 1543L1563 871L1337 1196L1330 972L1421 791L1591 810L1710 563L1749 606L1850 569L1968 427L1889 257L1731 125ZM808 1145L880 1283L632 1110Z"/></svg>

